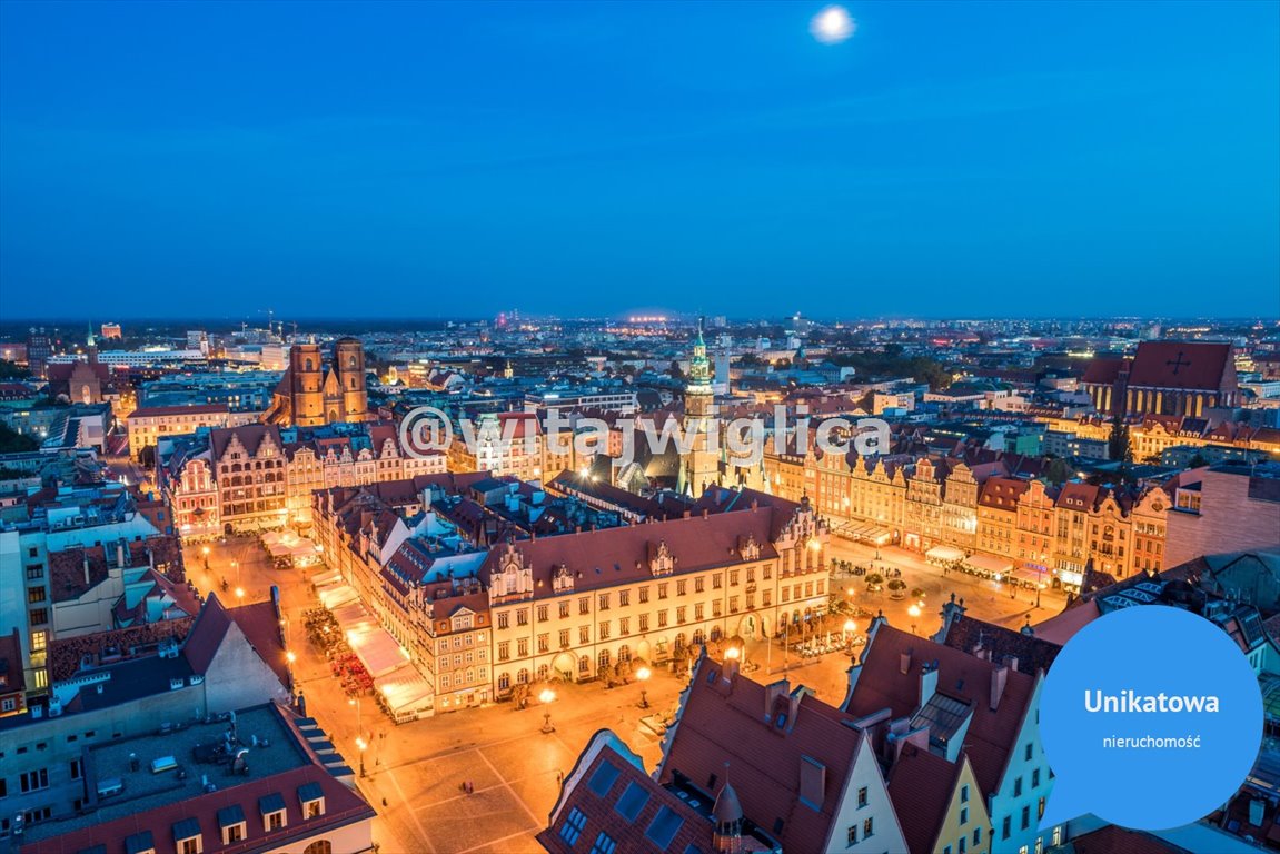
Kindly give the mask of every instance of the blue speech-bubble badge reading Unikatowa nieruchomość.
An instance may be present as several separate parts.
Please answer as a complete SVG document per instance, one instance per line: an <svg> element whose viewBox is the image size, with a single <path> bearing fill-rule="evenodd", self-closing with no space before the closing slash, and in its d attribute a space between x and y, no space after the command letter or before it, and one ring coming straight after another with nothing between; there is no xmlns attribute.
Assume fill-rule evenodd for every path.
<svg viewBox="0 0 1280 854"><path fill-rule="evenodd" d="M1041 827L1085 813L1135 830L1189 825L1230 799L1262 741L1262 694L1240 647L1164 606L1082 629L1053 661L1039 708L1056 777Z"/></svg>

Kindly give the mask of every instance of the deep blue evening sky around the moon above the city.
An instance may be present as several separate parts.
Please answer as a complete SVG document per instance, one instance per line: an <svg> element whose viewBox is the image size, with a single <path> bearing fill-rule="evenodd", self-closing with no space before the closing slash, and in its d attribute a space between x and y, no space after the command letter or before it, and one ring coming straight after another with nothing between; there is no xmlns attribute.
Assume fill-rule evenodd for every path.
<svg viewBox="0 0 1280 854"><path fill-rule="evenodd" d="M1280 314L1280 4L0 3L0 319Z"/></svg>

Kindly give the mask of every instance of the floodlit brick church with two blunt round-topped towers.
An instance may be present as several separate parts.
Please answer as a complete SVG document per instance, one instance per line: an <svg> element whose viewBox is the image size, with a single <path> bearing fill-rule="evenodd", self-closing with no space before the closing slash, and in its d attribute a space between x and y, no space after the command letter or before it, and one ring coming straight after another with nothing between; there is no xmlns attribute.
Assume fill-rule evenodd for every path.
<svg viewBox="0 0 1280 854"><path fill-rule="evenodd" d="M289 367L275 387L264 420L293 426L369 420L361 343L339 338L328 361L320 344L293 344Z"/></svg>

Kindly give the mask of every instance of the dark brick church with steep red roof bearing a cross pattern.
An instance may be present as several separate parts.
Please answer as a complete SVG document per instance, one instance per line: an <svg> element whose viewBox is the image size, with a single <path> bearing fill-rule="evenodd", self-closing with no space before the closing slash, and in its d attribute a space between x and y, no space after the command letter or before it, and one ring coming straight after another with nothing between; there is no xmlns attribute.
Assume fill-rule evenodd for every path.
<svg viewBox="0 0 1280 854"><path fill-rule="evenodd" d="M1144 341L1125 359L1094 359L1080 380L1106 415L1183 415L1239 403L1231 344Z"/></svg>

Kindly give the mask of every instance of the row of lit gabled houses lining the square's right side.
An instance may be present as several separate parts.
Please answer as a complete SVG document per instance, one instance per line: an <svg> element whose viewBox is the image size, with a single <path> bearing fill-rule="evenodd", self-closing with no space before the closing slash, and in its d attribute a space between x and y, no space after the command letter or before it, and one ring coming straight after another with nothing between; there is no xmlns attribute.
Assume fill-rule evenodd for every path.
<svg viewBox="0 0 1280 854"><path fill-rule="evenodd" d="M1079 588L1089 561L1124 577L1166 566L1172 495L1160 485L1041 479L1043 460L1000 452L960 456L826 453L765 456L787 498L809 495L837 533L979 562L1029 584ZM941 547L941 549L940 549Z"/></svg>

